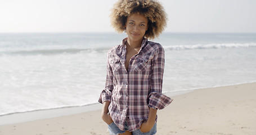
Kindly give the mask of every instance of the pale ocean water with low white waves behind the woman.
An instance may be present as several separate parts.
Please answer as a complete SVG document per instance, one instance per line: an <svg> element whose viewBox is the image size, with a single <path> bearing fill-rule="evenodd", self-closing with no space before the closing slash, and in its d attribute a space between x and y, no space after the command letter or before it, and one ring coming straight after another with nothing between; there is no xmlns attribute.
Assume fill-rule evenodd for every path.
<svg viewBox="0 0 256 135"><path fill-rule="evenodd" d="M95 104L125 34L1 33L0 116ZM256 34L163 33L164 93L256 82ZM232 93L231 93L232 94Z"/></svg>

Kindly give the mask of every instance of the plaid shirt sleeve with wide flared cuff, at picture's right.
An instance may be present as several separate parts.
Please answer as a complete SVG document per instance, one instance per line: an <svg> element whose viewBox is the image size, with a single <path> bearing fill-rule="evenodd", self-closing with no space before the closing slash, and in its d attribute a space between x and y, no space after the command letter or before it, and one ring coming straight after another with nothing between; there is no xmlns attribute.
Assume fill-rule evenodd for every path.
<svg viewBox="0 0 256 135"><path fill-rule="evenodd" d="M164 48L159 44L152 59L151 89L149 94L149 107L152 109L164 109L173 101L162 93L164 60Z"/></svg>

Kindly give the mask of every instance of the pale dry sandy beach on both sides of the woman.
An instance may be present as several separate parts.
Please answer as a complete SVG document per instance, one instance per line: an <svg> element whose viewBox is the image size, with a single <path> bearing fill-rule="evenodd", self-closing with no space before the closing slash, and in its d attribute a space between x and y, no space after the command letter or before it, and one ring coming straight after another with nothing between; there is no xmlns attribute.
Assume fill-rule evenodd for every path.
<svg viewBox="0 0 256 135"><path fill-rule="evenodd" d="M256 134L255 96L256 83L197 89L173 96L172 104L158 111L157 134ZM100 113L96 110L0 125L0 134L107 134ZM29 118L30 114L23 116Z"/></svg>

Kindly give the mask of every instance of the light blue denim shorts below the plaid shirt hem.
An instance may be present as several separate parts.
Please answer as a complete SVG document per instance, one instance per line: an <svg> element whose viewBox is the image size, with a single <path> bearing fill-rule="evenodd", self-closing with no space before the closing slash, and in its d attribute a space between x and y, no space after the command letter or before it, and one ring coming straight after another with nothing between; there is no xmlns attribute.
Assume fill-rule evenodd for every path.
<svg viewBox="0 0 256 135"><path fill-rule="evenodd" d="M109 124L109 133L110 134L119 134L119 133L124 133L125 131L128 131L128 124L127 122L125 122L125 125L124 125L124 129L125 131L122 131L120 130L116 124L113 122L111 124ZM132 132L133 135L137 135L137 134L143 134L143 135L153 135L153 134L156 134L156 123L154 124L154 126L152 127L152 129L149 131L149 132L146 132L146 133L143 133L141 132L141 129L136 129L135 131Z"/></svg>

